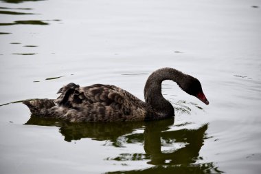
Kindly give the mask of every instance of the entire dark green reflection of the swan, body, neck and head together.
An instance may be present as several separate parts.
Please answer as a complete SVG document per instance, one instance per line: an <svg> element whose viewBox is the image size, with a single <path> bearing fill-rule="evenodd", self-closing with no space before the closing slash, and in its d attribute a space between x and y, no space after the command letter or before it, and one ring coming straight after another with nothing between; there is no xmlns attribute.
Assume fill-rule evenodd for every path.
<svg viewBox="0 0 261 174"><path fill-rule="evenodd" d="M127 162L130 160L146 160L151 168L142 173L181 172L181 173L223 173L212 162L198 163L203 157L199 156L201 146L207 138L207 124L198 129L182 129L183 125L174 125L174 118L151 122L80 122L72 123L63 120L46 119L31 116L25 124L59 127L65 141L91 138L92 140L107 141L109 145L124 147L124 144L144 144L145 153L121 153L117 157L106 160ZM177 130L170 130L170 128ZM144 129L140 133L137 129ZM107 144L108 145L108 144ZM167 150L163 150L167 149ZM137 171L116 171L109 173L138 173Z"/></svg>

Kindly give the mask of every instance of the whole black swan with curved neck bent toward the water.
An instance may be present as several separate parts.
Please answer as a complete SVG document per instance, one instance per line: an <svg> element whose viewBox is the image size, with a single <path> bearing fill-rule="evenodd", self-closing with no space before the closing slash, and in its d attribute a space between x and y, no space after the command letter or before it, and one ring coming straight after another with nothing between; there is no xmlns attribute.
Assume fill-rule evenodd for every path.
<svg viewBox="0 0 261 174"><path fill-rule="evenodd" d="M146 102L113 85L80 87L69 83L58 91L57 99L32 99L23 103L36 116L70 122L159 120L174 116L174 108L161 94L163 80L173 80L183 91L209 104L198 79L169 67L157 69L148 77L144 88Z"/></svg>

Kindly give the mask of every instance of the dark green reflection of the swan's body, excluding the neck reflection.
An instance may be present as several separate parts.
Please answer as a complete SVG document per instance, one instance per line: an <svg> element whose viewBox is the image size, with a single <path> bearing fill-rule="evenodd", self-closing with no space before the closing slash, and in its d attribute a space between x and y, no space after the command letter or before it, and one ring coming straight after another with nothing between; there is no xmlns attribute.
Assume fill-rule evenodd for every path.
<svg viewBox="0 0 261 174"><path fill-rule="evenodd" d="M132 133L136 129L141 129L143 122L67 122L55 118L41 118L32 115L25 123L38 126L60 127L60 133L65 137L65 141L91 138L97 141L111 141L111 145L119 147L122 135ZM123 144L124 142L120 142Z"/></svg>

